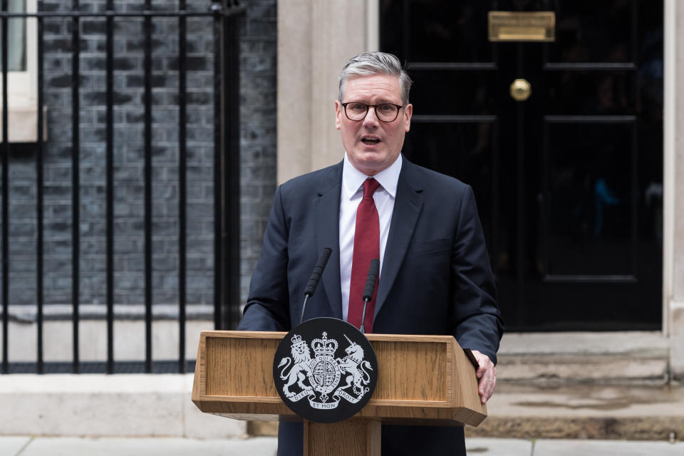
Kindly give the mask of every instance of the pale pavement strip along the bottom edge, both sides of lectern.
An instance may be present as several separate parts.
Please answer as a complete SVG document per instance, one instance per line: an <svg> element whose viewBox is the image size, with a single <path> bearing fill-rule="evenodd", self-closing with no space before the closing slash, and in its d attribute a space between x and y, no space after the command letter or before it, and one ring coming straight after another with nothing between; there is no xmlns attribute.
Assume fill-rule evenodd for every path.
<svg viewBox="0 0 684 456"><path fill-rule="evenodd" d="M0 456L274 456L275 437L199 440L177 437L0 436ZM466 439L475 456L683 456L684 442Z"/></svg>

